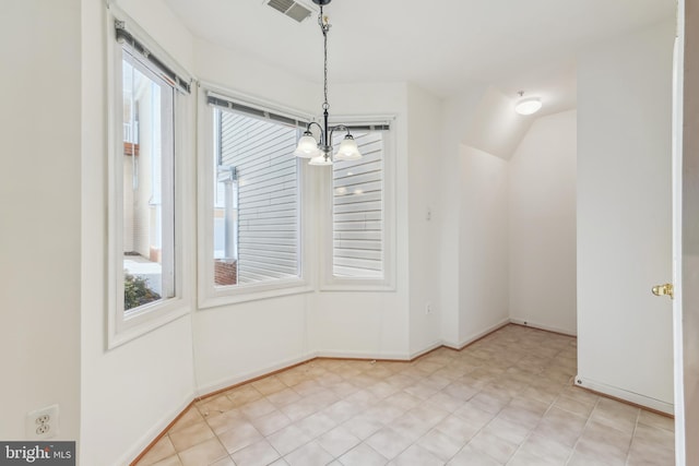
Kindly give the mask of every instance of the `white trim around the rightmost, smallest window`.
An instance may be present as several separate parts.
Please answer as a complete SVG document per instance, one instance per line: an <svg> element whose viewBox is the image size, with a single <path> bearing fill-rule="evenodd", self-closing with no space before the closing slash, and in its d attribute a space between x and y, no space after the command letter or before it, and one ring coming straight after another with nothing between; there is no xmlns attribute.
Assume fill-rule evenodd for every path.
<svg viewBox="0 0 699 466"><path fill-rule="evenodd" d="M321 291L395 291L395 116L335 117L336 121L353 127L377 127L383 132L383 277L354 278L337 277L333 274L333 214L332 214L332 172L323 174L320 187L322 212L319 234L323 239L320 252ZM334 124L334 122L332 122ZM384 129L384 126L389 129Z"/></svg>

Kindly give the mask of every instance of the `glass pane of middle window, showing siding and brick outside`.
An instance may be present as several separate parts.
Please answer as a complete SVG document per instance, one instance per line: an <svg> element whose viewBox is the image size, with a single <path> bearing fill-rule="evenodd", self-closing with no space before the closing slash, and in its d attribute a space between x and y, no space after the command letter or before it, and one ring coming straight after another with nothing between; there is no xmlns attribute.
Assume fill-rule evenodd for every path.
<svg viewBox="0 0 699 466"><path fill-rule="evenodd" d="M213 111L214 284L298 277L297 129Z"/></svg>

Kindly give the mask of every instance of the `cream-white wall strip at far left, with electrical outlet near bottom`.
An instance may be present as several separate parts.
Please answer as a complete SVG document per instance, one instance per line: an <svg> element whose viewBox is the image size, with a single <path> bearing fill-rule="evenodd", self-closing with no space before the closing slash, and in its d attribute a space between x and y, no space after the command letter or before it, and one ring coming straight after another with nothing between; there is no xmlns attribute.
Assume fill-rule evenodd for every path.
<svg viewBox="0 0 699 466"><path fill-rule="evenodd" d="M0 11L2 440L25 440L26 413L52 404L56 439L80 433L80 5Z"/></svg>

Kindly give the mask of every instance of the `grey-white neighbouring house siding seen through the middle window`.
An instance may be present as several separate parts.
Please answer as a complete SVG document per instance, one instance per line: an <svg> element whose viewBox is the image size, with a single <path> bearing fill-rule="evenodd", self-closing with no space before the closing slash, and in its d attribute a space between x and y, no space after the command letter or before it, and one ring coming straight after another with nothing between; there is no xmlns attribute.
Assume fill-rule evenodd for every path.
<svg viewBox="0 0 699 466"><path fill-rule="evenodd" d="M298 276L295 128L221 112L222 165L238 177L238 283Z"/></svg>

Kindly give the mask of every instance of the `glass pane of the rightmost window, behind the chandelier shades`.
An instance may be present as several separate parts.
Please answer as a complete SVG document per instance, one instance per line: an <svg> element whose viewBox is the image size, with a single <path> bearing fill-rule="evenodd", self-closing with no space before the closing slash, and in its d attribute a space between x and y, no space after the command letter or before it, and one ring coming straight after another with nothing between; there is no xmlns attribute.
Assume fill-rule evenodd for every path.
<svg viewBox="0 0 699 466"><path fill-rule="evenodd" d="M383 278L382 133L354 133L354 139L363 157L333 165L333 275Z"/></svg>

